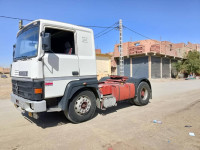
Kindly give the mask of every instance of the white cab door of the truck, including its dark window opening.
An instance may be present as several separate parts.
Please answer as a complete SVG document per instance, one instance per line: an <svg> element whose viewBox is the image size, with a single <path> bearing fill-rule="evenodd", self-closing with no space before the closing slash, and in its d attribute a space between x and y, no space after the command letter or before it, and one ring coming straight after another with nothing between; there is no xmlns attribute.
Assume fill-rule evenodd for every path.
<svg viewBox="0 0 200 150"><path fill-rule="evenodd" d="M45 28L51 34L51 51L44 55L45 98L63 96L66 85L79 79L73 30Z"/></svg>

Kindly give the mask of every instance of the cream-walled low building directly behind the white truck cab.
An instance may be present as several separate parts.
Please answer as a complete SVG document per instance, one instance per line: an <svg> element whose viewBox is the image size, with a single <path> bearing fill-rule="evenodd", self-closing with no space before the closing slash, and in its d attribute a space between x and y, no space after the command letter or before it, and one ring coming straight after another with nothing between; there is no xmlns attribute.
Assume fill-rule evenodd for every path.
<svg viewBox="0 0 200 150"><path fill-rule="evenodd" d="M96 49L97 79L111 75L111 55L102 54Z"/></svg>

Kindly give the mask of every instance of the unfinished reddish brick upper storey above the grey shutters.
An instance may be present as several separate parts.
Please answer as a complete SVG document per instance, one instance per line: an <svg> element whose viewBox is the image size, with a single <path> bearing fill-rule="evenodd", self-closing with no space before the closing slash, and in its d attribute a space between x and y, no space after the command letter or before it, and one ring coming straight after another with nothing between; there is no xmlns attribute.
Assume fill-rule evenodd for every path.
<svg viewBox="0 0 200 150"><path fill-rule="evenodd" d="M157 40L140 40L134 42L125 42L122 44L123 55L137 55L149 52L159 53L174 57L183 57L184 53L191 50L199 50L200 44L193 44L191 42L185 43L172 43L169 41ZM119 44L114 46L113 57L119 57Z"/></svg>

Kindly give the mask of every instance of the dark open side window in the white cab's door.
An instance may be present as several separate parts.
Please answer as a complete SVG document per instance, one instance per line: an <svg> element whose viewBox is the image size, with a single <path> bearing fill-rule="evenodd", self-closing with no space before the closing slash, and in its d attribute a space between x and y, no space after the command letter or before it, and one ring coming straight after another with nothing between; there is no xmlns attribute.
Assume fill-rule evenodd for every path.
<svg viewBox="0 0 200 150"><path fill-rule="evenodd" d="M75 54L74 33L59 29L46 28L46 33L51 33L51 50L58 54Z"/></svg>

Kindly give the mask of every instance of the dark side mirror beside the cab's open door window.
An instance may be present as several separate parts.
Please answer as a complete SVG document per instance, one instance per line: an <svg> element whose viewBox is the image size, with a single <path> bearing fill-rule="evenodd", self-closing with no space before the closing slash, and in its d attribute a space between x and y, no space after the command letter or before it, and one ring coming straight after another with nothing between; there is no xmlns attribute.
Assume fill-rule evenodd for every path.
<svg viewBox="0 0 200 150"><path fill-rule="evenodd" d="M42 32L42 49L44 51L51 50L51 33Z"/></svg>

